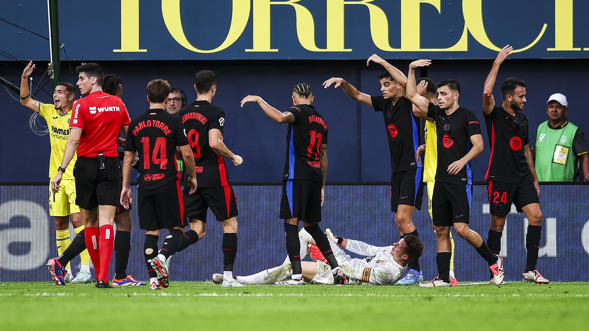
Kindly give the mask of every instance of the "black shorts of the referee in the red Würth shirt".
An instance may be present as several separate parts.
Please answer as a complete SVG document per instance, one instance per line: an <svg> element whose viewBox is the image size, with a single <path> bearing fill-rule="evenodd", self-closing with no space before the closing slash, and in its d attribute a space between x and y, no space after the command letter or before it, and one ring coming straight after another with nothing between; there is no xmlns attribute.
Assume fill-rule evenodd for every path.
<svg viewBox="0 0 589 331"><path fill-rule="evenodd" d="M99 169L95 157L78 157L74 166L75 203L86 210L98 206L120 206L121 161L104 157L104 169Z"/></svg>

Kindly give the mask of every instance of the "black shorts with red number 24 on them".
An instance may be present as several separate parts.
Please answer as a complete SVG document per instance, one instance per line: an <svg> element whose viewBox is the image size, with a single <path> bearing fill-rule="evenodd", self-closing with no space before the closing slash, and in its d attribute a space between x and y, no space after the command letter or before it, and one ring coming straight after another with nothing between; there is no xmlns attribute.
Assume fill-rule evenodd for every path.
<svg viewBox="0 0 589 331"><path fill-rule="evenodd" d="M528 204L540 203L538 191L531 180L518 184L488 180L487 190L489 191L489 212L493 216L507 216L511 211L511 203L515 204L518 213L521 213L521 208Z"/></svg>

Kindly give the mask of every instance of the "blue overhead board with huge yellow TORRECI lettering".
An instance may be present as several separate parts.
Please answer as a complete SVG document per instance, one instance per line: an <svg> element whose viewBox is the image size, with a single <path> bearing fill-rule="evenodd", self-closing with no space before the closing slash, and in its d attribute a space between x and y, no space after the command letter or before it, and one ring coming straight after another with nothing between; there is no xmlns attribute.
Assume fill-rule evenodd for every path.
<svg viewBox="0 0 589 331"><path fill-rule="evenodd" d="M45 1L0 8L48 35ZM61 0L59 41L77 60L474 59L506 44L512 58L587 58L587 12L580 0ZM47 41L2 31L7 52L49 58Z"/></svg>

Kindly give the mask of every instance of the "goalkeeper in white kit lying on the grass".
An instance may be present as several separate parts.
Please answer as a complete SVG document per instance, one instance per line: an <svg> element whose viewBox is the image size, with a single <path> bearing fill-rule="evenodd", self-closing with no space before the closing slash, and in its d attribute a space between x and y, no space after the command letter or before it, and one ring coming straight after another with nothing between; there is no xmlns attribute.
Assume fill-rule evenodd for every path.
<svg viewBox="0 0 589 331"><path fill-rule="evenodd" d="M410 260L418 259L423 254L423 244L418 237L411 234L394 243L392 246L377 247L358 240L343 239L333 236L329 229L326 230L333 254L348 276L346 284L376 284L392 285L401 278L403 270ZM326 264L325 257L321 254L315 241L305 229L299 231L301 241L301 256L310 255L315 262L301 262L303 279L313 284L333 284L331 267ZM307 250L307 247L309 249ZM366 259L354 259L345 253L340 247L352 253L367 256ZM237 276L237 282L241 284L274 284L280 283L290 277L292 267L288 257L284 263L272 269L250 276ZM213 274L213 282L223 281L222 274Z"/></svg>

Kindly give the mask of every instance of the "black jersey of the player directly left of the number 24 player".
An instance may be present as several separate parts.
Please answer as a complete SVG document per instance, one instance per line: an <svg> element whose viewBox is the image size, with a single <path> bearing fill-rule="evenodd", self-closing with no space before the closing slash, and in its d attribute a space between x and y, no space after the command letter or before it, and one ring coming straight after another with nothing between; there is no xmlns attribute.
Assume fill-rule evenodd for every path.
<svg viewBox="0 0 589 331"><path fill-rule="evenodd" d="M470 162L458 174L448 173L448 167L460 160L471 150L470 137L481 134L481 123L474 111L458 107L450 115L438 105L430 102L428 117L436 122L438 135L438 169L436 181L450 184L472 184L472 170Z"/></svg>

